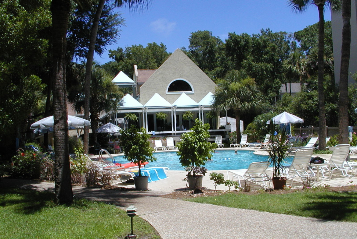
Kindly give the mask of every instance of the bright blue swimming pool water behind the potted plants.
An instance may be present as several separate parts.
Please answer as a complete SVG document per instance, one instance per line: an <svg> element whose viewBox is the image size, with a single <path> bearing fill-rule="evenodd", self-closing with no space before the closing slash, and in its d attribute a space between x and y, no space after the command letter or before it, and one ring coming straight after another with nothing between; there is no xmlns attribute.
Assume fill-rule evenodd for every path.
<svg viewBox="0 0 357 239"><path fill-rule="evenodd" d="M267 156L257 156L251 150L238 150L235 154L234 150L216 150L213 154L212 161L207 161L205 167L207 170L234 170L248 168L251 162L266 161ZM147 167L169 167L170 170L185 170L179 163L179 158L176 152L157 152L154 153L155 162L150 162ZM116 156L115 161L118 163L126 163L123 156ZM291 163L292 159L288 158L287 163Z"/></svg>

